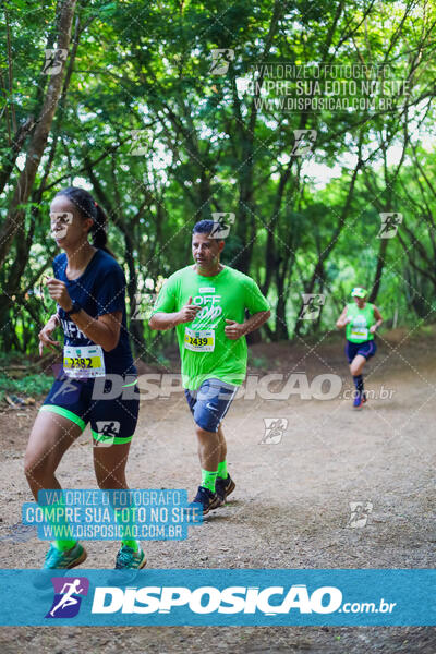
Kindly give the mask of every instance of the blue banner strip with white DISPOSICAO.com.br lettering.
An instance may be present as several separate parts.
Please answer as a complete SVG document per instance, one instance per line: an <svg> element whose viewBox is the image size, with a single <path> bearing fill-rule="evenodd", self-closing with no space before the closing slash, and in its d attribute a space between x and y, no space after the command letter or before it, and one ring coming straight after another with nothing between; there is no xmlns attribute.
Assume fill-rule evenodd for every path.
<svg viewBox="0 0 436 654"><path fill-rule="evenodd" d="M434 626L436 571L0 570L1 626Z"/></svg>

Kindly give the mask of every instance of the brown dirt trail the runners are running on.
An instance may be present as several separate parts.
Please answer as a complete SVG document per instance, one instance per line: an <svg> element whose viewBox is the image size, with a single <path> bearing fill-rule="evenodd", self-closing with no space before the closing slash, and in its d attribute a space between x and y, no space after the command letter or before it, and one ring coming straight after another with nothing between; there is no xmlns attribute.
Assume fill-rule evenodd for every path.
<svg viewBox="0 0 436 654"><path fill-rule="evenodd" d="M350 400L237 400L225 422L231 501L185 542L148 542L152 568L427 568L435 565L435 398L433 339L401 346L401 334L379 347L366 387L392 391L363 411ZM348 382L342 343L254 346L264 371L336 373ZM174 365L174 371L177 366ZM196 448L184 397L144 401L128 467L142 488L198 483ZM31 500L23 451L36 409L0 414L0 552L2 568L38 567L46 552L20 528ZM287 419L280 443L261 444L264 419ZM64 487L95 487L87 429L59 469ZM366 526L350 529L350 502L372 502ZM88 542L88 568L113 565L117 544ZM17 644L20 639L21 644ZM24 652L316 652L436 651L432 628L3 628L4 654Z"/></svg>

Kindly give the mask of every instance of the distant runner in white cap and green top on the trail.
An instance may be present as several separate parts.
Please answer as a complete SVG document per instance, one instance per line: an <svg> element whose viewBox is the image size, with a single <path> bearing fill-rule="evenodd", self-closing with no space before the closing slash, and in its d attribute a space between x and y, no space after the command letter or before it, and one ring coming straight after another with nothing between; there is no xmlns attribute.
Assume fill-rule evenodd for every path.
<svg viewBox="0 0 436 654"><path fill-rule="evenodd" d="M354 302L347 304L336 323L339 329L347 327L346 354L355 386L354 409L360 409L366 402L362 371L367 360L374 356L377 350L374 335L383 323L380 312L375 304L366 302L366 295L365 289L355 287L351 291Z"/></svg>

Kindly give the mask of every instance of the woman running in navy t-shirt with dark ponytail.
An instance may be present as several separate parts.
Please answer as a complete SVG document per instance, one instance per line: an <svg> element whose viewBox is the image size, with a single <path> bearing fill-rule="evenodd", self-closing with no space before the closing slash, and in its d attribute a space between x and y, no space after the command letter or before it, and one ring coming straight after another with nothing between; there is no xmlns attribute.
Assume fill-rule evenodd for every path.
<svg viewBox="0 0 436 654"><path fill-rule="evenodd" d="M59 344L52 340L58 326L64 332L64 347L63 365L37 415L25 455L25 474L36 500L40 489L61 488L56 470L88 422L98 446L93 452L99 487L126 489L125 464L138 413L125 279L106 247L105 213L90 193L70 186L55 196L50 221L51 235L64 252L55 258L55 276L47 281L58 310L39 332L39 353L44 346L55 349ZM114 399L113 392L110 399L101 397L111 389L108 374L130 383L129 392ZM97 385L100 392L96 396ZM86 556L77 541L61 537L51 543L44 568L74 568ZM137 541L123 540L116 568L143 568L145 562Z"/></svg>

